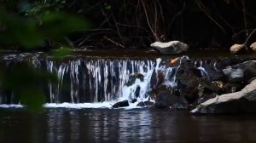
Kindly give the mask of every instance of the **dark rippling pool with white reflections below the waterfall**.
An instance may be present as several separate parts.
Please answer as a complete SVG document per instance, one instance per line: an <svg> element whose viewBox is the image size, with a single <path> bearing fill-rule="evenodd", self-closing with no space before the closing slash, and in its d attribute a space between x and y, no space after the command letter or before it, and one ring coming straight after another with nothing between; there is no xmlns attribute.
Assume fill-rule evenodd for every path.
<svg viewBox="0 0 256 143"><path fill-rule="evenodd" d="M255 142L256 116L155 109L1 110L1 143Z"/></svg>

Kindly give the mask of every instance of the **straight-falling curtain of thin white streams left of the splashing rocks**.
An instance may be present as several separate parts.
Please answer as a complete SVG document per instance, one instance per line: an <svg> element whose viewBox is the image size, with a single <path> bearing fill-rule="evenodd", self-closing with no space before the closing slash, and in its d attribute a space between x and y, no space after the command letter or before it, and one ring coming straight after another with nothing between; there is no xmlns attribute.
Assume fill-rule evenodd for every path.
<svg viewBox="0 0 256 143"><path fill-rule="evenodd" d="M154 61L79 59L58 64L48 60L46 66L49 72L57 73L59 77L57 85L49 83L49 102L97 103L125 98L124 86L130 75L152 71ZM65 97L62 97L65 94L63 87L69 90Z"/></svg>

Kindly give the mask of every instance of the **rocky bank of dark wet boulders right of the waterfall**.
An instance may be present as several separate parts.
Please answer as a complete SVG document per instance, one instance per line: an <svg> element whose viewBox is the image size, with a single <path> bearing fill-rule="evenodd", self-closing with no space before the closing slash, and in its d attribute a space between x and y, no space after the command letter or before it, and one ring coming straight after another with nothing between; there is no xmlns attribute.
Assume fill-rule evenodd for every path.
<svg viewBox="0 0 256 143"><path fill-rule="evenodd" d="M238 101L240 106L236 108L232 108L232 106L237 105L237 103L233 104L233 101L229 103L225 103L224 100L221 101L222 104L219 105L227 105L233 109L232 111L221 110L218 106L214 110L212 104L213 107L218 104L211 101L212 104L208 105L208 102L209 100L226 99L226 94L230 94L231 99L236 99L236 94L241 94L240 92L245 95L253 94L253 91L244 93L243 90L247 89L246 86L253 87L256 85L255 82L251 85L256 77L256 60L238 57L190 60L188 56L183 56L170 59L162 66L166 66L166 70L156 67L150 79L151 90L148 92L148 100L154 100L154 104L152 103L150 106L189 110L196 108L193 113L252 111L245 109L245 107L252 108L253 104L251 103L253 101L249 101L251 106L246 106L248 103L243 100L244 97ZM135 82L137 79L143 80L143 75L131 76L127 86L132 84L131 81ZM134 94L138 93L139 90L140 87L138 86ZM256 96L255 93L254 95ZM249 97L251 99L251 95ZM143 104L140 103L139 106L143 106ZM211 106L210 109L208 106ZM225 106L227 109L230 109L229 107ZM237 108L241 108L241 110Z"/></svg>

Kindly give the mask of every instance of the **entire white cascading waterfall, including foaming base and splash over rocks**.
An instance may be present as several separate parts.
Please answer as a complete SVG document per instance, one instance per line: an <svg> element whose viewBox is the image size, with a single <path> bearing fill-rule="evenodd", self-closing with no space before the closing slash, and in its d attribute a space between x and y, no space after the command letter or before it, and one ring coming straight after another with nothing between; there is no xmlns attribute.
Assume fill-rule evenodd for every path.
<svg viewBox="0 0 256 143"><path fill-rule="evenodd" d="M29 58L28 58L29 57ZM188 57L187 57L188 58ZM29 59L29 60L27 60ZM152 88L153 75L163 72L165 85L177 86L176 73L179 66L167 67L165 60L143 59L100 59L67 57L53 60L50 57L40 58L40 54L9 54L3 57L5 66L11 66L13 61L32 62L32 66L55 73L57 83L47 83L49 93L47 106L80 106L98 107L99 103L109 103L121 100L136 99L137 102L149 100L148 93ZM203 67L198 67L207 74ZM141 74L143 79L136 78L134 83L127 85L132 75ZM157 76L156 76L157 77ZM156 79L158 80L158 79ZM19 104L13 93L5 93L0 89L0 104ZM93 106L87 103L94 103ZM96 106L98 105L98 106Z"/></svg>

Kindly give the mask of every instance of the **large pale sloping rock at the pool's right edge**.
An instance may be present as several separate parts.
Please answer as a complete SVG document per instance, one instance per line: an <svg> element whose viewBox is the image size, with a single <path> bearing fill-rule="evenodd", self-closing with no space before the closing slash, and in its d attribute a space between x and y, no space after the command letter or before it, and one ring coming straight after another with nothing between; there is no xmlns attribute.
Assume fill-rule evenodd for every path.
<svg viewBox="0 0 256 143"><path fill-rule="evenodd" d="M201 103L191 113L256 113L256 79L241 91L222 94Z"/></svg>

